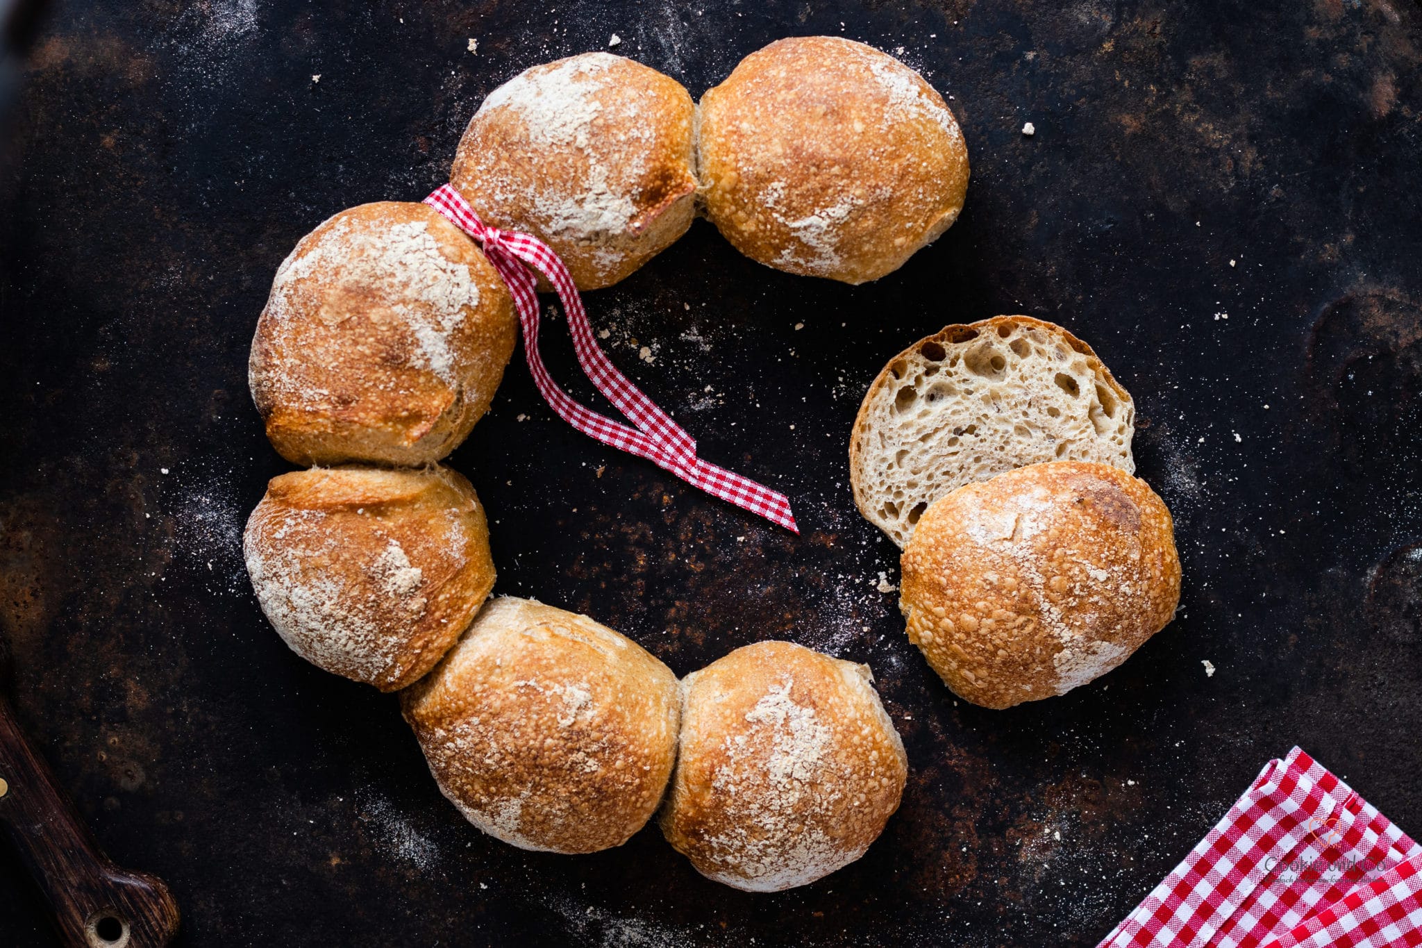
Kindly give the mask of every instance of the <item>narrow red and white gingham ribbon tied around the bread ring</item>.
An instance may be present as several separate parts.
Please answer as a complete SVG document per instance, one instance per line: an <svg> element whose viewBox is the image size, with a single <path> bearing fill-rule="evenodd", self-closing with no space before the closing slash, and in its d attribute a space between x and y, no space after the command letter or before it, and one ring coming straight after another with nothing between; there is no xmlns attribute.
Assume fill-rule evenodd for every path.
<svg viewBox="0 0 1422 948"><path fill-rule="evenodd" d="M563 421L604 445L646 458L715 497L799 533L785 495L697 458L695 439L617 371L593 340L593 327L587 321L587 310L583 308L583 298L577 294L572 274L546 243L532 235L486 226L452 185L441 185L425 198L425 203L478 240L483 246L483 256L509 284L519 324L523 327L523 357L533 374L533 384ZM547 374L538 351L538 279L525 263L547 277L563 301L567 327L573 333L573 351L587 378L636 428L579 405Z"/></svg>

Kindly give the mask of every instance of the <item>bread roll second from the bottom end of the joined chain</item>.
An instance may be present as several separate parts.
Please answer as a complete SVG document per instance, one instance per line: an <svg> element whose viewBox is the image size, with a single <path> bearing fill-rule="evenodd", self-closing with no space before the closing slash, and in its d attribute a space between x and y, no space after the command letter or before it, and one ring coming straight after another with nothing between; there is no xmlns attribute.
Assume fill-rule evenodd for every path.
<svg viewBox="0 0 1422 948"><path fill-rule="evenodd" d="M401 695L439 789L526 850L621 846L657 809L677 756L677 677L586 615L496 598Z"/></svg>

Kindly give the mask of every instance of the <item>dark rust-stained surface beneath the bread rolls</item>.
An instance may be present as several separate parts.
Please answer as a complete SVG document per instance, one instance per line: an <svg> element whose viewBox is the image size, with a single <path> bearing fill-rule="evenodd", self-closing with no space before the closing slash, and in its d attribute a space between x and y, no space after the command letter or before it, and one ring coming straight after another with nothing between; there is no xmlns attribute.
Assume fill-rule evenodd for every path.
<svg viewBox="0 0 1422 948"><path fill-rule="evenodd" d="M425 195L489 90L613 33L694 95L779 36L873 43L951 95L973 158L963 219L876 284L771 271L702 222L589 294L613 358L789 493L801 537L577 435L518 364L452 456L502 591L678 674L765 637L873 667L903 807L779 895L656 829L576 858L482 837L394 698L286 650L239 556L283 470L246 394L276 264L341 208ZM1294 743L1422 831L1419 60L1405 0L63 4L0 182L20 718L105 849L169 881L185 945L1089 945ZM997 313L1064 323L1132 391L1185 566L1136 657L1007 712L907 645L845 458L886 357ZM0 854L0 944L48 938Z"/></svg>

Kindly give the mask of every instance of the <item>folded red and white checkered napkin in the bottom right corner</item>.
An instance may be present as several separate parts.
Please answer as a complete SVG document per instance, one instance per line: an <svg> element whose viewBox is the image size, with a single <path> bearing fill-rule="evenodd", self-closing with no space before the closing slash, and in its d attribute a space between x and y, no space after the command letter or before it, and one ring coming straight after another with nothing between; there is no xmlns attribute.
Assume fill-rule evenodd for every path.
<svg viewBox="0 0 1422 948"><path fill-rule="evenodd" d="M1146 945L1422 945L1422 847L1294 748L1098 948Z"/></svg>

